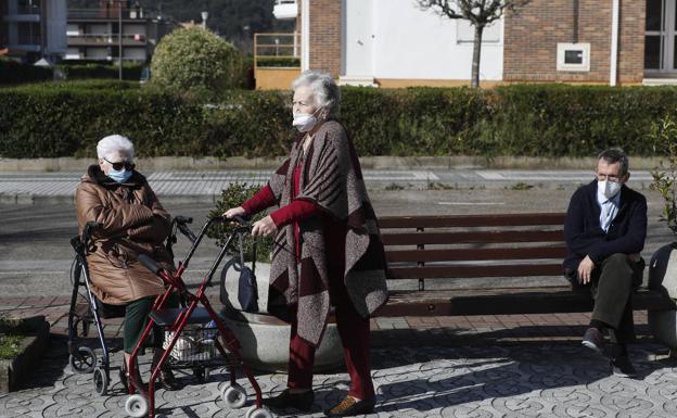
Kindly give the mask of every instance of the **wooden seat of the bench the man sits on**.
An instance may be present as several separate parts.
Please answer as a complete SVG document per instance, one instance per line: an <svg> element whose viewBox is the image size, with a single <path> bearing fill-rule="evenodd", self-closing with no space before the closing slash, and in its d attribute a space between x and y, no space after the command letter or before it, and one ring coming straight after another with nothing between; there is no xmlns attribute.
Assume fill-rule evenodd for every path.
<svg viewBox="0 0 677 418"><path fill-rule="evenodd" d="M675 309L669 297L641 289L633 294L635 311ZM493 291L393 292L374 316L516 315L590 312L592 297L567 288L494 289Z"/></svg>

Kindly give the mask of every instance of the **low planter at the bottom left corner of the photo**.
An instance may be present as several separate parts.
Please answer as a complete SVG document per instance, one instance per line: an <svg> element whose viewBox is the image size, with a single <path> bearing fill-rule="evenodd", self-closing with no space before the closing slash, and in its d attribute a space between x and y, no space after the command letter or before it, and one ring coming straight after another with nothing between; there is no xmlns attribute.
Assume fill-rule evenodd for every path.
<svg viewBox="0 0 677 418"><path fill-rule="evenodd" d="M0 332L14 331L26 335L21 342L21 354L11 359L0 359L0 393L15 391L22 377L35 369L47 347L49 330L50 325L41 315L0 322Z"/></svg>

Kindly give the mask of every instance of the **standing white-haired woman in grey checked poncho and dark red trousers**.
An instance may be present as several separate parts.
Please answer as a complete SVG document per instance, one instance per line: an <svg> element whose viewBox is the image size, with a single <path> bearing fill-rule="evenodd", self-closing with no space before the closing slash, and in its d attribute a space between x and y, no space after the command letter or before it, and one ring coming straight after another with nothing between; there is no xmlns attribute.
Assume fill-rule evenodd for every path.
<svg viewBox="0 0 677 418"><path fill-rule="evenodd" d="M268 186L225 214L280 206L252 228L253 236L276 235L268 311L291 321L292 329L288 389L264 403L310 409L315 351L333 305L350 390L324 414L367 414L375 403L369 316L387 300L383 244L355 148L335 119L338 87L330 75L306 71L292 88L293 126L301 134L290 157Z"/></svg>

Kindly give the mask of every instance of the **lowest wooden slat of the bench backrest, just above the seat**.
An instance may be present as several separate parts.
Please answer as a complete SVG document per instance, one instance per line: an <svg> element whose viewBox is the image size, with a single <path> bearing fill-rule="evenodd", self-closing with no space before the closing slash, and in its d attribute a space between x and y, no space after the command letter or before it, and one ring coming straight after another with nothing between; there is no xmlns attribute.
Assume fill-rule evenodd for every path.
<svg viewBox="0 0 677 418"><path fill-rule="evenodd" d="M562 264L511 264L493 266L389 266L388 279L458 279L473 277L563 276Z"/></svg>

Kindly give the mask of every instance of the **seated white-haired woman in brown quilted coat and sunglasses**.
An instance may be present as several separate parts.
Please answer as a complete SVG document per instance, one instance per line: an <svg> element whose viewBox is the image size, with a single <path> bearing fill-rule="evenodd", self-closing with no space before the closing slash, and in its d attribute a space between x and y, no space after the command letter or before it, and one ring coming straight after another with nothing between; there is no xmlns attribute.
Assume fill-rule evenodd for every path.
<svg viewBox="0 0 677 418"><path fill-rule="evenodd" d="M171 256L163 246L171 220L145 177L133 169L129 139L105 137L97 144L97 154L99 163L89 167L75 192L75 208L80 233L88 221L102 225L92 233L97 249L87 257L92 292L104 304L126 306L120 373L126 385L131 352L145 328L154 297L165 291L162 280L140 265L138 256L146 254L173 268ZM162 343L162 332L155 331L155 343ZM162 350L156 349L155 354L153 360L157 362ZM141 383L138 373L133 379ZM176 387L169 370L159 373L158 382Z"/></svg>

